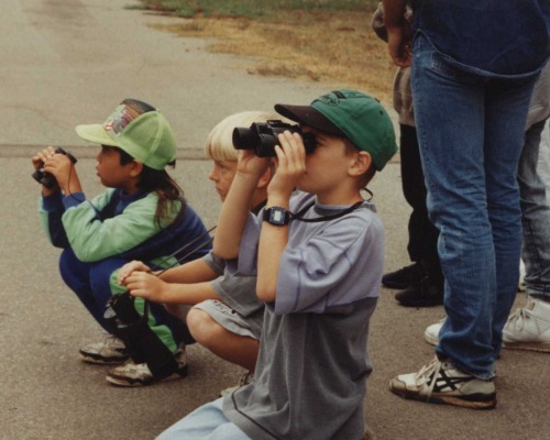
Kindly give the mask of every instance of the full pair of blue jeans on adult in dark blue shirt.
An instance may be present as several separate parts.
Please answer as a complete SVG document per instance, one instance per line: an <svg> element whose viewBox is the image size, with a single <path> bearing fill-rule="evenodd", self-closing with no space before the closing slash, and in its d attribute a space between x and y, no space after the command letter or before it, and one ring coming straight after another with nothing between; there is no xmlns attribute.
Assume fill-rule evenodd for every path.
<svg viewBox="0 0 550 440"><path fill-rule="evenodd" d="M519 277L518 161L536 76L459 68L417 34L411 86L428 190L439 229L448 319L438 354L494 376Z"/></svg>

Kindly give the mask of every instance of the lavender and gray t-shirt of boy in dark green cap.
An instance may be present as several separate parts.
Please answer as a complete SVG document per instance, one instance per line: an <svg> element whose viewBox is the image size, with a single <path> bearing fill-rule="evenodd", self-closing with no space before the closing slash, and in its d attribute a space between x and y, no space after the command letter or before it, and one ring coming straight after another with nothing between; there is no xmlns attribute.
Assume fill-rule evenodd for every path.
<svg viewBox="0 0 550 440"><path fill-rule="evenodd" d="M293 198L298 212L315 197ZM316 204L305 218L345 207ZM262 218L262 216L258 216ZM237 266L254 274L261 222L250 216ZM294 220L266 305L254 382L223 400L224 415L254 440L359 440L364 432L369 322L384 255L383 226L364 202L338 219Z"/></svg>

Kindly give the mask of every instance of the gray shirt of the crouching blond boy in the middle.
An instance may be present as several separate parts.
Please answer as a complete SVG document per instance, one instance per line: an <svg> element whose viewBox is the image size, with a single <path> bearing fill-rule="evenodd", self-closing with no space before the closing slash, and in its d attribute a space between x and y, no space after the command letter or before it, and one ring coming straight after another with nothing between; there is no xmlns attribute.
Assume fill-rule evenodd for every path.
<svg viewBox="0 0 550 440"><path fill-rule="evenodd" d="M264 320L264 302L256 297L256 275L230 275L226 260L212 252L202 258L219 275L211 285L220 299L245 319L253 333L260 338Z"/></svg>

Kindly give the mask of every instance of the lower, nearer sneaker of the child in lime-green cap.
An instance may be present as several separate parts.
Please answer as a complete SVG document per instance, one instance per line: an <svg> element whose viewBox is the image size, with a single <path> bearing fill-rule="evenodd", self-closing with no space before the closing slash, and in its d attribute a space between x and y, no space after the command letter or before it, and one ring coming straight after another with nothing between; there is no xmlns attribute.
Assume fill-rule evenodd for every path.
<svg viewBox="0 0 550 440"><path fill-rule="evenodd" d="M160 381L153 377L153 373L151 373L146 363L136 364L131 359L124 362L124 364L108 372L106 380L113 385L130 387L153 385L158 382L174 381L187 376L187 355L185 354L185 345L179 349L174 356L177 362L176 371Z"/></svg>

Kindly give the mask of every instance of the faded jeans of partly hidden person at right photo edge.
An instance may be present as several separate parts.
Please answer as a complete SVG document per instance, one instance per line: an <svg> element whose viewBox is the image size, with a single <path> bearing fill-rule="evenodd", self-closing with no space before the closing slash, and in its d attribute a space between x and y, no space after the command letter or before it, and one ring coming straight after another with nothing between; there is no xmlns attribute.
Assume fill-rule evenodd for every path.
<svg viewBox="0 0 550 440"><path fill-rule="evenodd" d="M550 204L547 186L538 169L541 132L546 121L532 124L525 133L519 161L518 183L524 226L521 256L526 268L526 292L550 301ZM550 145L544 144L549 148Z"/></svg>

